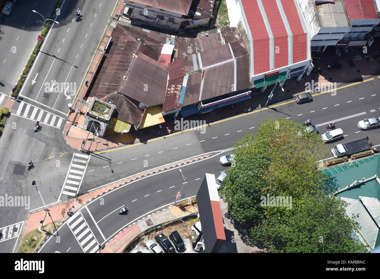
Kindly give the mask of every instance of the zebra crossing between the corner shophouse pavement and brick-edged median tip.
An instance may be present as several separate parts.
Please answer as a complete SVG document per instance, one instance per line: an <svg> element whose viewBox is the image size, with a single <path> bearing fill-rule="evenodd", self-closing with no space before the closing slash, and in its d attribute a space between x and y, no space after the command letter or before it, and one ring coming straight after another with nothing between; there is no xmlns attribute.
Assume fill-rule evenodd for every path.
<svg viewBox="0 0 380 279"><path fill-rule="evenodd" d="M86 172L87 164L90 161L90 155L74 153L71 164L63 183L62 194L74 196L79 191Z"/></svg>

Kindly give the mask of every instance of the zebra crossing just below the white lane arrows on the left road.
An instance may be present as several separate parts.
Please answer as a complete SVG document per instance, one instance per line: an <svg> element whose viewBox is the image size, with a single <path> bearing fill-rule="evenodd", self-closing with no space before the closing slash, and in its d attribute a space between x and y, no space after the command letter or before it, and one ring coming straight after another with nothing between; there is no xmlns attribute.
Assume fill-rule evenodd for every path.
<svg viewBox="0 0 380 279"><path fill-rule="evenodd" d="M60 128L64 119L53 113L47 112L46 110L40 109L39 107L33 106L23 101L20 102L20 105L17 108L16 113L14 114L31 120L40 121L41 123L56 128Z"/></svg>

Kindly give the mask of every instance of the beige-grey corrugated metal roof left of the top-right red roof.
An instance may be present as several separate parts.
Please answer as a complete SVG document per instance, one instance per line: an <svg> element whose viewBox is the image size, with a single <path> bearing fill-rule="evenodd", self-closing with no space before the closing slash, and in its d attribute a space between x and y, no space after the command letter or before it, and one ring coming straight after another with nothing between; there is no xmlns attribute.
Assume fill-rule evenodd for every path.
<svg viewBox="0 0 380 279"><path fill-rule="evenodd" d="M317 15L322 28L351 26L342 0L318 5Z"/></svg>

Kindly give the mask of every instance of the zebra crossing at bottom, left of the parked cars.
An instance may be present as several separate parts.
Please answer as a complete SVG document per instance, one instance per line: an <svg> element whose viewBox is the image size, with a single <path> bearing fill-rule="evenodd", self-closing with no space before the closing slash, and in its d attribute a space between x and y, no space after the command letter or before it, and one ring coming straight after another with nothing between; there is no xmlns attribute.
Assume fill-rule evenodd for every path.
<svg viewBox="0 0 380 279"><path fill-rule="evenodd" d="M67 223L85 253L95 253L99 249L99 243L80 211L69 218Z"/></svg>

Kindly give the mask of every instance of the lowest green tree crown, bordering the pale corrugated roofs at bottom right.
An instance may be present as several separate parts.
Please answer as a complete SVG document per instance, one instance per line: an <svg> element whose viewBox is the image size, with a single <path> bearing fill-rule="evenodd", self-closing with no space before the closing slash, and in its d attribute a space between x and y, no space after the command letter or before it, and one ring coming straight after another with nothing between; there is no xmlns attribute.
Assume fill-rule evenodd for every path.
<svg viewBox="0 0 380 279"><path fill-rule="evenodd" d="M346 204L327 195L308 195L301 208L290 210L286 221L267 218L253 227L251 238L261 247L270 247L271 252L367 252L351 238L358 223L343 213Z"/></svg>

